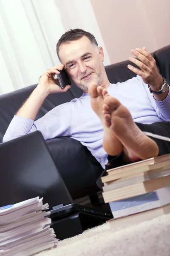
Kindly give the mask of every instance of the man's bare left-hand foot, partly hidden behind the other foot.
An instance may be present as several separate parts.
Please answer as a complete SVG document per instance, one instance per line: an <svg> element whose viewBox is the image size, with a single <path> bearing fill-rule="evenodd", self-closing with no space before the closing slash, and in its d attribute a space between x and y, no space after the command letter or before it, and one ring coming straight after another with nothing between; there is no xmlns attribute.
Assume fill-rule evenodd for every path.
<svg viewBox="0 0 170 256"><path fill-rule="evenodd" d="M101 86L98 86L96 83L92 82L88 87L88 93L91 97L91 107L94 110L94 112L97 114L97 116L99 116L100 120L102 121L104 134L110 134L110 128L108 128L105 125L105 118L102 113L103 105L104 105L104 97L108 95L107 90L103 89ZM108 141L109 137L111 137L110 142ZM107 137L108 139L106 139L106 136L104 136L104 138L105 138L105 145L108 144L108 147L111 146L111 149L108 150L108 147L106 147L106 149L109 152L111 151L112 156L116 156L117 154L123 151L122 143L115 136L112 136L111 134ZM106 152L108 153L108 151Z"/></svg>

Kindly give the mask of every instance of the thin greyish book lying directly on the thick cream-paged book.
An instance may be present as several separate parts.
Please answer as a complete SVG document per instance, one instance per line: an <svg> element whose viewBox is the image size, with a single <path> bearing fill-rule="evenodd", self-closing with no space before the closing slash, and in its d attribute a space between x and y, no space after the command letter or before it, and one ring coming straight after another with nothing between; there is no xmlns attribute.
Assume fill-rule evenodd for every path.
<svg viewBox="0 0 170 256"><path fill-rule="evenodd" d="M134 175L121 178L119 180L113 181L107 186L103 187L103 192L110 191L112 189L119 189L124 186L133 185L136 183L144 182L146 180L152 180L165 175L170 175L170 169L161 172L141 172Z"/></svg>

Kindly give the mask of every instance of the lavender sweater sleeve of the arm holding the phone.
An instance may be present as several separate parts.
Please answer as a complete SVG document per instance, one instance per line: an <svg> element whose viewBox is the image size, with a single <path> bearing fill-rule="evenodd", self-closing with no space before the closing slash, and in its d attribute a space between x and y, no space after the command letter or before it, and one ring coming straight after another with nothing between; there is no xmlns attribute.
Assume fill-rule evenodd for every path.
<svg viewBox="0 0 170 256"><path fill-rule="evenodd" d="M73 117L74 102L59 105L36 121L14 116L3 137L3 142L37 130L42 133L45 140L60 136L70 136Z"/></svg>

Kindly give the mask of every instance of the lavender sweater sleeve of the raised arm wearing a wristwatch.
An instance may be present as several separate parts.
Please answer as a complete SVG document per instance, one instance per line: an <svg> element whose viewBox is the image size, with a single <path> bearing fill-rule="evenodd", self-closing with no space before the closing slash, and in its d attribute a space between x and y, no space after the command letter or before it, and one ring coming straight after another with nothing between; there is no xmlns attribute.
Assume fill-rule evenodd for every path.
<svg viewBox="0 0 170 256"><path fill-rule="evenodd" d="M155 109L157 115L162 119L162 121L170 122L170 87L169 87L169 85L168 85L169 92L168 92L166 99L164 99L162 101L158 101L154 98L153 94L150 93L148 84L145 84L143 82L142 77L137 76L136 78L142 82L142 84L147 92L147 96L150 99L151 105Z"/></svg>

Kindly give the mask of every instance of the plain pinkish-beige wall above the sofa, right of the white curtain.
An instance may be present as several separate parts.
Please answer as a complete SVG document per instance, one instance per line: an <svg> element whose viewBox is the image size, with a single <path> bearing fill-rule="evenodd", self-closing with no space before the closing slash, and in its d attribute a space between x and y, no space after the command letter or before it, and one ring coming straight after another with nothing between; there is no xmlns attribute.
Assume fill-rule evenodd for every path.
<svg viewBox="0 0 170 256"><path fill-rule="evenodd" d="M170 0L91 0L111 63L170 44Z"/></svg>

